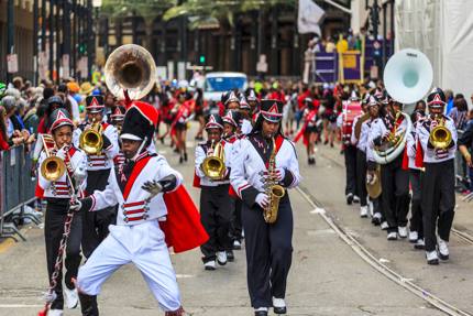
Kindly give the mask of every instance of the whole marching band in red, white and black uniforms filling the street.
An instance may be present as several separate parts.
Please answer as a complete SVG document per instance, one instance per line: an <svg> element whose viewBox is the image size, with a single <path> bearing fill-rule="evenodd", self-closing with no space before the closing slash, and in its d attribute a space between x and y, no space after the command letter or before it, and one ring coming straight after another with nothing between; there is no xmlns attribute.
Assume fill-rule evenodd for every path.
<svg viewBox="0 0 473 316"><path fill-rule="evenodd" d="M408 238L428 264L449 259L453 160L465 141L443 115L441 89L431 90L413 115L381 83L334 91L305 88L288 97L277 85L265 94L230 90L212 108L201 90L178 88L165 91L166 106L156 109L141 100L148 88L131 85L123 74L127 69L107 78L108 91L88 91L81 121L61 97L47 99L34 151L36 196L47 201L51 286L40 315L63 315L65 305L76 308L79 302L82 315L99 315L102 284L128 263L140 270L165 315L185 315L168 249L200 247L202 269L211 273L233 261L243 240L254 315L268 315L270 308L286 314L293 253L288 189L301 179L295 143L304 141L314 165L316 143L324 139L333 146L337 127L346 203L359 203L360 216L386 230L388 240ZM292 119L283 119L292 105L302 109L298 131ZM156 151L169 137L179 163L187 162L191 119L200 122L191 184L200 189L198 207L183 175Z"/></svg>

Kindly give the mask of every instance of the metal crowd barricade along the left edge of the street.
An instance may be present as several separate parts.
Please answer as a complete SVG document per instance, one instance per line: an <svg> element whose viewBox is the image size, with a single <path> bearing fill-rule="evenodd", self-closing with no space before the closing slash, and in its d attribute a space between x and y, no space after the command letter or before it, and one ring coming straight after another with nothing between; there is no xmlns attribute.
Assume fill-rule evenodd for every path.
<svg viewBox="0 0 473 316"><path fill-rule="evenodd" d="M12 238L15 236L26 240L13 221L7 221L13 217L30 218L35 224L40 219L34 215L25 215L24 207L35 200L35 181L31 178L30 171L32 159L25 153L24 146L15 146L0 153L1 181L0 181L0 237Z"/></svg>

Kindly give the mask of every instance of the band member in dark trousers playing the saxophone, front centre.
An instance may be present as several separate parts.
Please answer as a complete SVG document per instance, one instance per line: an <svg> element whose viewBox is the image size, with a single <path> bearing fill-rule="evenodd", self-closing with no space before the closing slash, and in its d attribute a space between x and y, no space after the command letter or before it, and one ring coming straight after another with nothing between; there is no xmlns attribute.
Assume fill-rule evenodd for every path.
<svg viewBox="0 0 473 316"><path fill-rule="evenodd" d="M256 316L267 315L271 306L276 314L286 313L284 298L293 253L293 210L287 190L279 201L277 220L267 224L263 216L271 203L263 182L277 181L292 188L300 181L294 144L280 133L282 117L282 102L261 101L252 133L234 148L230 175L233 189L243 200L248 286Z"/></svg>

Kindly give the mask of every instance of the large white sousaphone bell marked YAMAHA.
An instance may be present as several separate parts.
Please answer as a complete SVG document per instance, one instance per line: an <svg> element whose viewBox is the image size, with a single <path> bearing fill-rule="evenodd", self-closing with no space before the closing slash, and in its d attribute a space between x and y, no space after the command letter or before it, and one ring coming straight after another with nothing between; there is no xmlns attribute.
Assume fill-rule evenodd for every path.
<svg viewBox="0 0 473 316"><path fill-rule="evenodd" d="M384 85L389 96L400 103L422 99L432 85L433 70L427 56L414 48L393 55L384 68Z"/></svg>

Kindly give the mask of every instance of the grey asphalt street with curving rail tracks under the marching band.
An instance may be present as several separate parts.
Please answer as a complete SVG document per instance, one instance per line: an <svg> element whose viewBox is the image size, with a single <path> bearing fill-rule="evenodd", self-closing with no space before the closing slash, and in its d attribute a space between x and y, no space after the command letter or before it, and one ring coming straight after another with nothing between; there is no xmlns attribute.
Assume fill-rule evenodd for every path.
<svg viewBox="0 0 473 316"><path fill-rule="evenodd" d="M188 143L189 162L167 145L158 145L169 163L185 175L185 184L198 204L199 192L191 187L194 141ZM473 312L472 246L453 238L451 261L428 266L424 253L407 241L388 242L385 232L359 217L356 206L344 201L344 168L337 149L319 146L317 165L308 166L298 145L301 186L323 205L349 233L373 252L374 257L427 291L447 302ZM443 315L363 261L315 211L297 190L293 203L294 255L289 274L288 315ZM42 293L47 290L44 237L41 227L23 229L28 241L0 246L0 315L36 315ZM205 271L198 249L173 254L183 304L190 315L252 315L246 292L244 249L235 251L235 262ZM163 315L133 265L117 271L99 296L101 315ZM80 315L79 309L65 315Z"/></svg>

